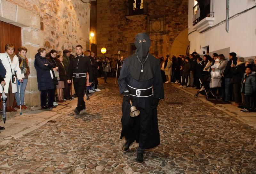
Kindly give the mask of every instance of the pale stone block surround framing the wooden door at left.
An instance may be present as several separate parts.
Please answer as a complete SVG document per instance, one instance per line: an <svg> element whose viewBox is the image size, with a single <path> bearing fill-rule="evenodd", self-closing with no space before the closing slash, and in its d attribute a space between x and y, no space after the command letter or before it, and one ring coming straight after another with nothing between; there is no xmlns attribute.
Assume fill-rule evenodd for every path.
<svg viewBox="0 0 256 174"><path fill-rule="evenodd" d="M34 67L37 49L43 46L43 33L40 31L40 16L6 0L0 0L0 20L21 27L22 46L28 49L30 74L25 91L25 104L40 105L40 92L37 89L36 71Z"/></svg>

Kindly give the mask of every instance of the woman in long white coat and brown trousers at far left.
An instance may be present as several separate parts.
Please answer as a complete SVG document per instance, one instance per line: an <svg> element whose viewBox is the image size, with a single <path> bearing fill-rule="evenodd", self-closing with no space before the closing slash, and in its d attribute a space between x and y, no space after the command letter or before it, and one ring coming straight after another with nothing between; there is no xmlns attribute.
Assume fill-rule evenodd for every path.
<svg viewBox="0 0 256 174"><path fill-rule="evenodd" d="M14 53L14 45L6 44L5 45L5 53L0 53L0 59L4 68L6 69L6 75L4 78L5 86L4 93L7 95L6 100L6 112L17 112L12 105L14 102L15 93L17 92L16 83L18 83L17 79L22 82L20 67L19 67L19 58ZM17 77L13 76L16 75ZM0 87L0 93L3 92L3 88Z"/></svg>

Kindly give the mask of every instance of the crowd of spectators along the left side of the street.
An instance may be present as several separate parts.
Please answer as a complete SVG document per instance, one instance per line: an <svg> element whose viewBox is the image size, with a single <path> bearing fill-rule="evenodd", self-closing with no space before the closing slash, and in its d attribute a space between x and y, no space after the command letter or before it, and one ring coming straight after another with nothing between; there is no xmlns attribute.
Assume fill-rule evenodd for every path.
<svg viewBox="0 0 256 174"><path fill-rule="evenodd" d="M0 93L4 89L7 95L6 112L17 112L15 107L18 109L28 109L24 105L25 89L30 72L28 58L26 58L28 49L20 47L17 55L14 51L15 47L13 44L6 44L5 53L0 53L0 78L2 85L0 87ZM107 83L107 77L115 77L117 71L118 78L124 57L121 56L120 60L117 61L116 59L110 59L105 56L95 57L95 53L90 50L84 51L83 54L90 58L93 69L93 83L89 83L87 80L86 90L84 92L86 99L90 100L89 94L100 91L98 88L98 77L103 76L105 83ZM56 108L58 103L67 102L76 97L76 94L72 95L71 84L67 82L68 66L72 57L74 55L68 49L63 50L63 52L52 49L48 53L45 48L37 50L34 66L36 69L38 90L41 93L40 102L42 109L49 110L50 108ZM88 73L87 79L89 79ZM17 90L19 89L18 85L20 85L20 93ZM17 104L14 102L14 99L16 99Z"/></svg>

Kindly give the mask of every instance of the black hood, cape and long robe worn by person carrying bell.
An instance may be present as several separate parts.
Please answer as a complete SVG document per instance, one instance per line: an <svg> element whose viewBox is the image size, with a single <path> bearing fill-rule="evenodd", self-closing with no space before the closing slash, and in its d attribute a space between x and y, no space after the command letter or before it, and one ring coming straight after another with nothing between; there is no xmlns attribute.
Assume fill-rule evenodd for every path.
<svg viewBox="0 0 256 174"><path fill-rule="evenodd" d="M149 97L132 96L133 105L140 110L140 115L137 117L130 117L131 105L123 99L121 139L125 137L126 140L136 140L140 148L149 149L160 143L157 110L152 108L152 103L154 98L164 98L164 87L159 60L148 54L149 36L144 33L138 34L135 37L135 46L137 48L136 53L124 59L121 68L118 78L120 94L127 91L127 85L129 85L137 89L147 89L153 86L154 95ZM141 63L144 61L142 68ZM143 69L143 72L141 72L141 69Z"/></svg>

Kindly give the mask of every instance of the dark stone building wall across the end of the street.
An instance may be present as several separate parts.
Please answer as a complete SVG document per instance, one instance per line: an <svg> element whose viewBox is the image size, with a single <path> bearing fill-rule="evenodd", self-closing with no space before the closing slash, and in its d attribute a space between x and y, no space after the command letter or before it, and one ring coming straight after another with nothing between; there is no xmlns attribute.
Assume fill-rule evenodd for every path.
<svg viewBox="0 0 256 174"><path fill-rule="evenodd" d="M141 32L150 35L151 54L172 55L175 38L188 28L188 0L144 0L147 14L135 16L126 16L126 2L97 0L98 56L103 56L100 53L102 47L107 49L105 56L117 57L118 51L124 57L129 56L130 45L135 35Z"/></svg>

